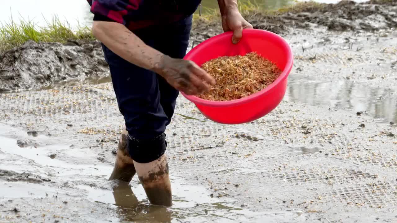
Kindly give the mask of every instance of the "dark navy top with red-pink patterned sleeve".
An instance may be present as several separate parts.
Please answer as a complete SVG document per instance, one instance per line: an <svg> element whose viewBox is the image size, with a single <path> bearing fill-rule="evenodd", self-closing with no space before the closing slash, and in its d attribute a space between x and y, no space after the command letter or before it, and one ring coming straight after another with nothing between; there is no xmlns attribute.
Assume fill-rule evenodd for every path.
<svg viewBox="0 0 397 223"><path fill-rule="evenodd" d="M201 0L87 0L94 20L114 21L128 29L177 21L193 14Z"/></svg>

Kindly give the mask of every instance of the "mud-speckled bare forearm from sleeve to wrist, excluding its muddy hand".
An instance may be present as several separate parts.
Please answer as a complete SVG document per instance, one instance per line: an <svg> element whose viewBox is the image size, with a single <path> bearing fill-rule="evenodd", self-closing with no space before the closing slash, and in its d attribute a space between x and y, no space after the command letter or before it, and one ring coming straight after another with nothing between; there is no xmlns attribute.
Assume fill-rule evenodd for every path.
<svg viewBox="0 0 397 223"><path fill-rule="evenodd" d="M93 35L124 60L148 70L155 70L164 56L121 23L94 21Z"/></svg>

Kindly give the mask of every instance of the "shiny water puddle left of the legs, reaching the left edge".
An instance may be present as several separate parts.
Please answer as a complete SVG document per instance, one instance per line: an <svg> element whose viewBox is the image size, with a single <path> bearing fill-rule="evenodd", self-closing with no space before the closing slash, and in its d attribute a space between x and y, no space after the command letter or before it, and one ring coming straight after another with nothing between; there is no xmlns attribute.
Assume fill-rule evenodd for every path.
<svg viewBox="0 0 397 223"><path fill-rule="evenodd" d="M0 169L24 172L40 169L58 177L81 176L107 177L112 166L96 159L92 150L60 142L47 136L30 136L25 132L0 124L0 151L13 158L0 157ZM25 143L26 142L26 143ZM22 145L22 147L18 146Z"/></svg>

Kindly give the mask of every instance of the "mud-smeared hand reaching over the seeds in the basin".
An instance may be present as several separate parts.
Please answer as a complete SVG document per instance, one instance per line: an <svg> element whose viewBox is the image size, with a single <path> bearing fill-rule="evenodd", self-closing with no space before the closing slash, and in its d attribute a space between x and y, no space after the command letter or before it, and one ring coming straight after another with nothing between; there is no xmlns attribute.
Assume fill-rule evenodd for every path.
<svg viewBox="0 0 397 223"><path fill-rule="evenodd" d="M175 89L188 95L202 94L215 85L215 79L195 62L162 56L154 69Z"/></svg>

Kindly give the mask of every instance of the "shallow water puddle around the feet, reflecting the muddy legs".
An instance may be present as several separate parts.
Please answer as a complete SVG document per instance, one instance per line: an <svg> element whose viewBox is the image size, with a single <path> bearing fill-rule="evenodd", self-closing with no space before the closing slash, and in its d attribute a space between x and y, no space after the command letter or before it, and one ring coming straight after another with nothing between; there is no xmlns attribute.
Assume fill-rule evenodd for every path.
<svg viewBox="0 0 397 223"><path fill-rule="evenodd" d="M101 190L89 186L79 186L85 190L92 202L108 204L119 213L119 219L134 222L207 222L208 218L217 221L282 222L303 216L299 211L266 212L250 211L229 205L232 199L213 198L205 188L187 185L179 177L171 179L173 206L170 208L151 206L146 200L141 185L131 186L119 183L113 190Z"/></svg>

